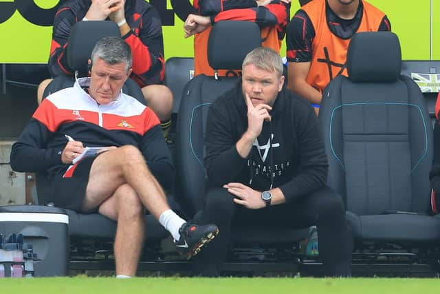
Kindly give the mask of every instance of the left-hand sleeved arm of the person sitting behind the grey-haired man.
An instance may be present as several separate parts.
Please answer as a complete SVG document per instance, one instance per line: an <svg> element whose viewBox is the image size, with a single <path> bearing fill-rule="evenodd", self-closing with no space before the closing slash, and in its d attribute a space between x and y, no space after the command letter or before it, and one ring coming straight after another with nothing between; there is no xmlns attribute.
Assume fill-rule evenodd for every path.
<svg viewBox="0 0 440 294"><path fill-rule="evenodd" d="M69 34L72 31L72 26L77 21L80 21L80 19L76 19L72 10L68 7L61 8L55 14L49 56L49 72L52 78L73 74L73 70L67 65L66 52Z"/></svg>

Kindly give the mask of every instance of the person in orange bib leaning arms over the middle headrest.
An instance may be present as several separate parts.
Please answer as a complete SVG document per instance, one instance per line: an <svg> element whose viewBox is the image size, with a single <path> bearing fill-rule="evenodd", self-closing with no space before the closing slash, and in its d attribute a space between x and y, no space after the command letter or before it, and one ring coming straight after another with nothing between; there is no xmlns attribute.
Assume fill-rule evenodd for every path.
<svg viewBox="0 0 440 294"><path fill-rule="evenodd" d="M289 21L290 0L195 0L197 14L189 14L184 25L185 38L194 38L195 75L214 76L208 64L208 36L218 21L254 21L261 28L262 45L280 51ZM238 69L219 70L219 76L239 75Z"/></svg>

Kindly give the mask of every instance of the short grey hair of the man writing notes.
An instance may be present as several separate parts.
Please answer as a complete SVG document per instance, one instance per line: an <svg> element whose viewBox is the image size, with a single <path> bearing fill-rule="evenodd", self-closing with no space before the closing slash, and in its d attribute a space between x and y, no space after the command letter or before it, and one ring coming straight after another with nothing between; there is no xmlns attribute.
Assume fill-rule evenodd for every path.
<svg viewBox="0 0 440 294"><path fill-rule="evenodd" d="M127 72L133 64L131 48L119 36L104 36L100 39L91 52L91 61L96 61L97 58L111 65L123 62Z"/></svg>

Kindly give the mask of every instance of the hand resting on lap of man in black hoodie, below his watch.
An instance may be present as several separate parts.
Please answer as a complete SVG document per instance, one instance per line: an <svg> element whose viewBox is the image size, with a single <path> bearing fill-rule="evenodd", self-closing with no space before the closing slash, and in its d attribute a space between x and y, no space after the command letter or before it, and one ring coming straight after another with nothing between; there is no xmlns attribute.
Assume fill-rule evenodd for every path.
<svg viewBox="0 0 440 294"><path fill-rule="evenodd" d="M230 182L223 186L228 192L236 196L234 202L243 205L248 209L261 209L266 207L266 203L261 199L261 192L256 191L241 182Z"/></svg>

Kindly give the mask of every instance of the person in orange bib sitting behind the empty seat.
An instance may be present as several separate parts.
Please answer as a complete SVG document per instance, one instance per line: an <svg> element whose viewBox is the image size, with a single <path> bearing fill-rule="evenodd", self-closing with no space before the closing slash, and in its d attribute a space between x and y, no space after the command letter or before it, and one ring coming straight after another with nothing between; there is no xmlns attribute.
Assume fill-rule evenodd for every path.
<svg viewBox="0 0 440 294"><path fill-rule="evenodd" d="M287 87L318 108L331 79L347 76L351 37L371 31L391 31L391 23L364 0L310 1L287 25Z"/></svg>

